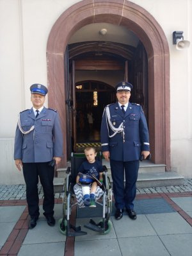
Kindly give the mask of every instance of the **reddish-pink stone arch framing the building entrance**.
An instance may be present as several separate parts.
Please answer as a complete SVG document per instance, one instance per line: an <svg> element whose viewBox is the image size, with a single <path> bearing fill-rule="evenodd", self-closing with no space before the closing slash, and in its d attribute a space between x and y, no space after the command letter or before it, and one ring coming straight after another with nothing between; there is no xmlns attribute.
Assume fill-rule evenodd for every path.
<svg viewBox="0 0 192 256"><path fill-rule="evenodd" d="M108 22L132 30L148 56L148 119L152 160L170 170L170 55L168 42L157 21L145 9L129 1L84 0L70 6L52 26L47 42L49 107L60 112L66 166L64 53L68 40L81 27Z"/></svg>

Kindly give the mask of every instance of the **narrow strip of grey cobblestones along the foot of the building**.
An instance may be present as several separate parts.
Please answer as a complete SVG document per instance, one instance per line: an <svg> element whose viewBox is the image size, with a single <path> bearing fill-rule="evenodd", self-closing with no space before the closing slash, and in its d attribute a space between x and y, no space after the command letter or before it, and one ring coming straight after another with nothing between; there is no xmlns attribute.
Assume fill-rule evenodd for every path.
<svg viewBox="0 0 192 256"><path fill-rule="evenodd" d="M38 185L39 198L43 198L44 194L42 186ZM191 192L192 178L185 179L182 185L167 186L167 187L147 187L137 189L137 194L157 194L168 192ZM56 193L55 198L62 198L62 192ZM0 200L25 200L26 199L26 185L0 185Z"/></svg>

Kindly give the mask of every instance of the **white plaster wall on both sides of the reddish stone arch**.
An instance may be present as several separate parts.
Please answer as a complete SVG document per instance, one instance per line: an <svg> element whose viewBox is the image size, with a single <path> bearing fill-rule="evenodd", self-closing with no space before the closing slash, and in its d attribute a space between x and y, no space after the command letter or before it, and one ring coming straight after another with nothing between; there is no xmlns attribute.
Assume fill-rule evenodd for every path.
<svg viewBox="0 0 192 256"><path fill-rule="evenodd" d="M9 150L8 157L5 154L1 159L1 177L6 176L5 171L13 171L12 180L20 182L12 162L17 115L31 108L29 86L36 82L47 84L46 46L49 33L61 13L77 2L0 1L0 150L4 151L4 147ZM192 176L192 158L188 153L192 146L192 46L186 51L177 51L172 44L172 32L175 30L184 31L184 39L192 42L192 0L183 0L182 4L179 0L135 0L132 3L145 8L159 22L168 40L172 169L184 176ZM0 183L9 181L10 178L2 178Z"/></svg>

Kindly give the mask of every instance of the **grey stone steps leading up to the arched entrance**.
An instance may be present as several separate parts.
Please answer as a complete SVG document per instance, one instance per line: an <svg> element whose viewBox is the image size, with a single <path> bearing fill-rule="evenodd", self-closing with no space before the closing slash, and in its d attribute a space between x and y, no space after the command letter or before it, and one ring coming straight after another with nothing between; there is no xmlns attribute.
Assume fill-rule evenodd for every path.
<svg viewBox="0 0 192 256"><path fill-rule="evenodd" d="M109 162L103 160L102 164L108 168L108 176L113 184ZM70 162L67 162L67 166L70 166ZM62 191L64 178L67 176L66 170L67 167L57 169L58 176L54 178L55 192ZM165 171L164 164L153 164L150 160L140 162L137 181L138 188L175 186L182 185L183 182L183 176L174 171Z"/></svg>

